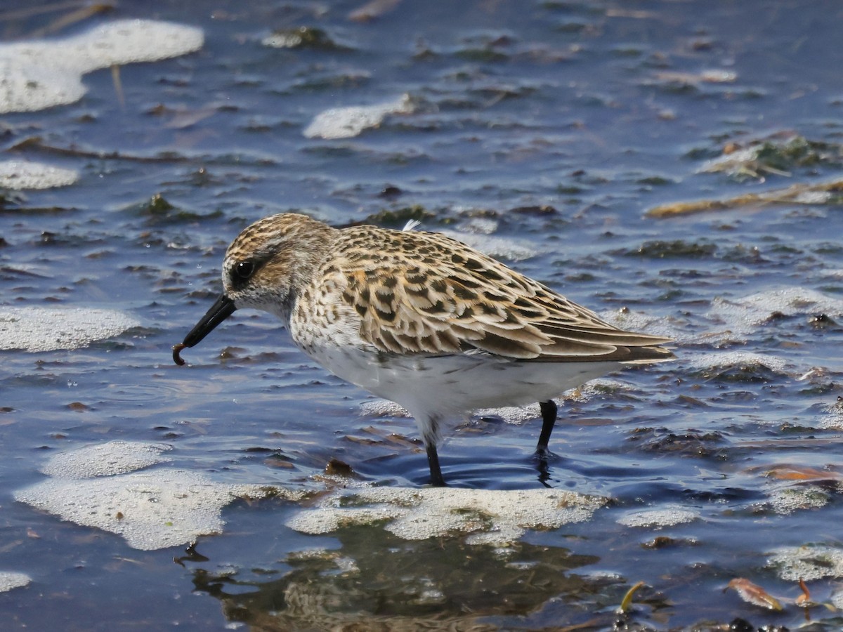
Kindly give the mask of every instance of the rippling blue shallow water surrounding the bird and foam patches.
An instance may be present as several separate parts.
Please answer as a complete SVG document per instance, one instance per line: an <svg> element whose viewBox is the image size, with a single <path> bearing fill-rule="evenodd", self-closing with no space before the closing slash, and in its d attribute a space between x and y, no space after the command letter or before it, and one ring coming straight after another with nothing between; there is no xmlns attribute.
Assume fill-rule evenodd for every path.
<svg viewBox="0 0 843 632"><path fill-rule="evenodd" d="M68 11L7 4L4 40ZM74 104L3 117L3 159L80 179L3 196L0 308L140 323L83 348L0 351L0 571L32 580L0 592L4 625L610 629L643 581L628 629L793 629L802 591L771 558L797 547L829 548L805 579L815 602L843 607L839 198L645 215L840 179L841 9L405 2L349 19L360 6L120 3L54 36L142 17L199 26L205 45L121 67L119 92L100 70ZM261 43L300 26L333 45ZM411 111L355 137L303 135L319 112L402 94ZM730 144L788 134L824 150L699 173ZM382 523L309 535L287 522L317 500L241 500L222 534L185 552L132 549L15 501L51 456L115 440L168 444L168 467L225 485L333 490L345 483L322 476L331 459L358 482L426 484L413 421L315 366L266 314L236 313L173 365L170 346L219 291L228 242L288 210L336 225L419 218L621 326L675 337L676 362L568 394L546 474L531 458L535 416L454 420L440 449L454 487L543 479L606 506L501 547ZM784 610L723 592L736 577ZM824 607L808 618L843 620Z"/></svg>

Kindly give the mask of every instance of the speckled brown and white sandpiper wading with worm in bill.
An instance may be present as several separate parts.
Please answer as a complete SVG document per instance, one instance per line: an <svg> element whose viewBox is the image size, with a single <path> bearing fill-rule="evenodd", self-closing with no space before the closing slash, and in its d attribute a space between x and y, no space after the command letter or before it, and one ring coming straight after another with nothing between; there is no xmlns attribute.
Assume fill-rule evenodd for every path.
<svg viewBox="0 0 843 632"><path fill-rule="evenodd" d="M443 420L539 402L535 455L546 459L553 398L626 365L674 359L673 340L619 329L442 233L281 213L234 238L222 280L216 303L173 345L176 364L235 310L273 313L315 362L410 412L434 486L446 485Z"/></svg>

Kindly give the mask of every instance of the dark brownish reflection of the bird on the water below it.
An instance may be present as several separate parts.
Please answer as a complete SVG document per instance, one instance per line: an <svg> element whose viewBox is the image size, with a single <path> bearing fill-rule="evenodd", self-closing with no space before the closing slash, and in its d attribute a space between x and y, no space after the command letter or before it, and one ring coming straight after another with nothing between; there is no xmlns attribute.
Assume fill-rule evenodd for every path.
<svg viewBox="0 0 843 632"><path fill-rule="evenodd" d="M557 547L408 542L380 531L374 540L371 528L345 528L336 538L338 549L289 554L283 563L291 570L280 579L196 570L193 581L223 603L228 619L268 630L491 630L502 619L493 624L490 617L515 620L555 600L577 621L607 606L609 586L616 595L622 583L578 576L572 571L598 558ZM609 624L613 616L601 619Z"/></svg>

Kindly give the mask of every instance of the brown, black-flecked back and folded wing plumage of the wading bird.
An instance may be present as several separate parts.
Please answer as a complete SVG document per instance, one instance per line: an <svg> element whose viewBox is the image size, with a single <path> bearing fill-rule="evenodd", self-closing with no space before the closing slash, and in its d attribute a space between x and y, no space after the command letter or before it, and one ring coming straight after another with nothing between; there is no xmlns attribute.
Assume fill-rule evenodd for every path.
<svg viewBox="0 0 843 632"><path fill-rule="evenodd" d="M346 265L337 270L346 285L342 297L360 316L362 338L381 351L480 350L542 362L672 357L658 346L669 339L617 329L444 235L355 228L343 233ZM395 254L384 254L384 242ZM372 258L372 252L380 256Z"/></svg>

